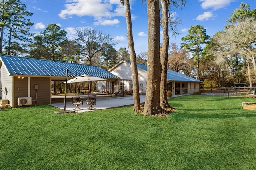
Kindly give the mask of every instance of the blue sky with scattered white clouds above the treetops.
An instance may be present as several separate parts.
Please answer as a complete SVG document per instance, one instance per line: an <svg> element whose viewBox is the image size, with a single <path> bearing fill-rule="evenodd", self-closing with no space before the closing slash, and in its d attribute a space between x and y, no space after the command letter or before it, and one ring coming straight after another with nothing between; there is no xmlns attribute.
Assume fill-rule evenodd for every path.
<svg viewBox="0 0 256 170"><path fill-rule="evenodd" d="M30 21L34 26L31 32L36 34L44 31L48 24L57 24L68 32L68 39L74 39L75 30L81 27L92 27L110 34L118 41L116 49L126 47L126 12L120 0L21 0L27 10L34 13ZM132 29L134 46L137 55L148 51L148 20L147 8L142 0L130 0L132 13ZM178 36L170 36L170 43L180 46L181 37L188 34L187 30L198 24L204 26L206 34L213 36L224 29L226 20L241 2L256 8L256 0L188 0L185 7L175 9L174 16L182 20L177 30ZM161 28L162 30L162 28ZM171 35L171 33L170 33ZM162 37L161 37L162 38Z"/></svg>

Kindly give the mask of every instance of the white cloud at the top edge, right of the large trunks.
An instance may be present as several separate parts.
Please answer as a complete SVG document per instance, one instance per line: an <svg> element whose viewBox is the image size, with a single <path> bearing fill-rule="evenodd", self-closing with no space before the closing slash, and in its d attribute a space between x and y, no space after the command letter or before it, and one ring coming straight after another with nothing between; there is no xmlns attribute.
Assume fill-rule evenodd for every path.
<svg viewBox="0 0 256 170"><path fill-rule="evenodd" d="M201 7L203 9L212 8L218 10L225 6L228 6L232 0L200 0L202 2Z"/></svg>

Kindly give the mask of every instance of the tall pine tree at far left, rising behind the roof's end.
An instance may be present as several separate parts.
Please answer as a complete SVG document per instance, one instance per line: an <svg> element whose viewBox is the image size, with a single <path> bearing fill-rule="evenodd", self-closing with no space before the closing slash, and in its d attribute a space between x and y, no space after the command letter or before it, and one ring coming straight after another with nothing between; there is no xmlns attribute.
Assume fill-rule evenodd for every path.
<svg viewBox="0 0 256 170"><path fill-rule="evenodd" d="M22 4L20 0L0 1L0 54L2 54L4 35L6 36L8 55L11 55L12 49L24 50L24 44L19 45L17 42L13 43L12 40L30 42L32 34L29 32L29 28L33 23L26 17L32 15L33 13L28 12L26 5Z"/></svg>

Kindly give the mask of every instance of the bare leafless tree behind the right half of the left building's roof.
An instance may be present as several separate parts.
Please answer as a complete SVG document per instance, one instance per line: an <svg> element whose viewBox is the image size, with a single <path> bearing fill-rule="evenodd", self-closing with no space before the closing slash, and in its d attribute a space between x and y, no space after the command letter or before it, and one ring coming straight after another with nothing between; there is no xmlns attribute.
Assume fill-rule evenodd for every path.
<svg viewBox="0 0 256 170"><path fill-rule="evenodd" d="M80 28L76 30L76 40L82 46L80 55L86 58L92 65L92 58L103 51L103 44L114 46L114 37L110 34L104 34L102 31L97 31L93 28Z"/></svg>

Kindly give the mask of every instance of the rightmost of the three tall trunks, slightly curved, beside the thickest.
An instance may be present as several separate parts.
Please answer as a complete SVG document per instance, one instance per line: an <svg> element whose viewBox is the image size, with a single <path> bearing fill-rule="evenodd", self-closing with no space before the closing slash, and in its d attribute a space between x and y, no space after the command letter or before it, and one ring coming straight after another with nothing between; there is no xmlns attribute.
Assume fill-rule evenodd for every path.
<svg viewBox="0 0 256 170"><path fill-rule="evenodd" d="M167 101L167 63L169 49L169 22L168 22L168 5L169 1L160 0L162 4L162 26L163 26L163 44L160 50L161 54L161 85L160 85L160 105L162 108L168 108L170 105Z"/></svg>

